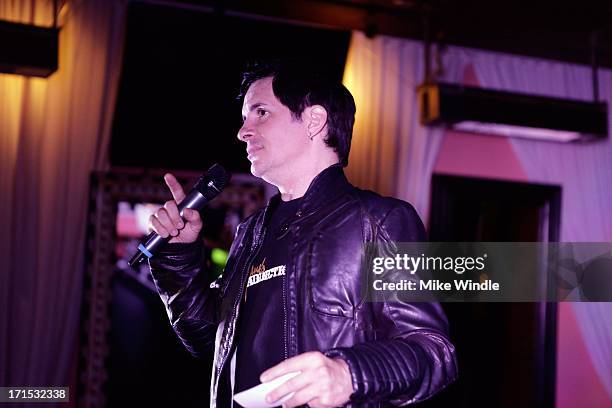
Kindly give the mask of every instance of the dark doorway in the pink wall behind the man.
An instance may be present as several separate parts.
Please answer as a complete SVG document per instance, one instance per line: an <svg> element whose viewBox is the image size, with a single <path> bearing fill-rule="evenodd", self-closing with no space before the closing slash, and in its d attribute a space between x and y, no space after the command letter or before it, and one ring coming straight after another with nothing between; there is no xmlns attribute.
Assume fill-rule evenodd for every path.
<svg viewBox="0 0 612 408"><path fill-rule="evenodd" d="M561 188L434 175L429 239L555 242ZM422 406L554 408L556 304L444 303L459 379Z"/></svg>

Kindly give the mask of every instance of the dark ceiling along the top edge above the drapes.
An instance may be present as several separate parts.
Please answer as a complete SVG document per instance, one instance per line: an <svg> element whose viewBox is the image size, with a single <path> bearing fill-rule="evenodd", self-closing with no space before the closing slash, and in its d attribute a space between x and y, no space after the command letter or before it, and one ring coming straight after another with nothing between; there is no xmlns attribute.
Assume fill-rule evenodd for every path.
<svg viewBox="0 0 612 408"><path fill-rule="evenodd" d="M149 0L149 2L157 2ZM169 0L369 35L429 38L445 44L612 68L612 1L495 0ZM429 27L428 30L425 27ZM595 33L595 35L593 35Z"/></svg>

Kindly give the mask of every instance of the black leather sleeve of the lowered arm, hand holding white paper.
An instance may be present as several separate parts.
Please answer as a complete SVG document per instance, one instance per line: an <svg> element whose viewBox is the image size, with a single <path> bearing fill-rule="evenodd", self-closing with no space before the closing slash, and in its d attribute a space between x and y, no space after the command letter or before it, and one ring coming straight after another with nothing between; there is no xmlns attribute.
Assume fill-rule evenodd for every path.
<svg viewBox="0 0 612 408"><path fill-rule="evenodd" d="M393 242L425 241L425 229L414 208L393 201L379 222L376 240L390 243L391 248ZM438 303L394 300L370 306L381 339L325 353L347 362L355 390L351 402L407 405L433 396L455 380L455 349Z"/></svg>

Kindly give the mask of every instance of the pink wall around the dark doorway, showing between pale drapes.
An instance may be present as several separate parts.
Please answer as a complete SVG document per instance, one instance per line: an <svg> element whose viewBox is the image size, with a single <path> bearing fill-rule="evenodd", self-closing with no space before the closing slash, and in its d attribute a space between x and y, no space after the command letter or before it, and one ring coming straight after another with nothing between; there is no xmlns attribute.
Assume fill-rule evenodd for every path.
<svg viewBox="0 0 612 408"><path fill-rule="evenodd" d="M466 69L463 82L478 86L472 67ZM434 173L528 182L507 138L451 131L444 136ZM571 304L559 304L557 319L556 407L612 407L591 363Z"/></svg>

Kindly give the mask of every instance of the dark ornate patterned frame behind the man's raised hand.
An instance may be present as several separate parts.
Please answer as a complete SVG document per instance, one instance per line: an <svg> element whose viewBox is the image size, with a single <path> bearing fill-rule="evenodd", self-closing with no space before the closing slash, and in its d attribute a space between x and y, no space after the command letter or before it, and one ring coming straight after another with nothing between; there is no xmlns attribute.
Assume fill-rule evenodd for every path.
<svg viewBox="0 0 612 408"><path fill-rule="evenodd" d="M112 301L111 280L116 271L114 244L117 205L131 203L163 203L171 199L163 183L162 172L118 169L91 176L86 239L86 276L81 311L79 342L79 407L104 407L104 385L108 372L108 334ZM176 172L182 185L193 185L200 176L194 172ZM211 205L239 209L244 217L266 199L263 181L250 175L234 175L226 189Z"/></svg>

